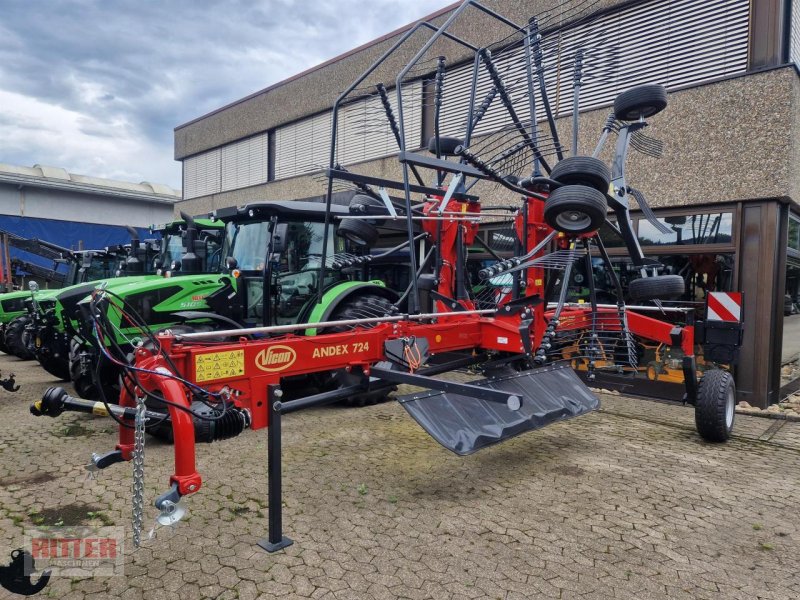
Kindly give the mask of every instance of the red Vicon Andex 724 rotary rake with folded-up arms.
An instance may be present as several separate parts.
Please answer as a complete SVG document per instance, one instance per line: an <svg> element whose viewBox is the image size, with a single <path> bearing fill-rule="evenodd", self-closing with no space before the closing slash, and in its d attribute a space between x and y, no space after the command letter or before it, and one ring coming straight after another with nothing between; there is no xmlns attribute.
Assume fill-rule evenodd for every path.
<svg viewBox="0 0 800 600"><path fill-rule="evenodd" d="M585 12L589 11L585 3L576 0L571 4L573 17L591 20L593 13ZM509 35L490 48L476 47L452 28L470 14L507 28ZM425 33L429 34L427 41L395 79L392 102L387 87L372 78L385 71L379 67L391 64L388 59L395 57L398 49ZM263 240L267 250L262 245L258 254L267 257L263 266L244 268L244 256L235 256L235 244L234 250L226 253L233 259L226 258L230 275L252 280L255 287L247 289L260 291L242 294L231 290L225 298L252 310L254 318L265 320L264 326L153 334L145 327L138 307L128 302L120 305L126 318L139 326L143 343L136 345L129 363L112 355L124 368L119 406L81 401L51 388L31 410L51 416L65 410L105 413L120 422L118 444L104 455L94 455L90 468L133 462L135 544L141 542L144 518L144 434L149 428L169 427L174 437L174 471L166 491L154 502L160 524L179 521L185 514L182 499L201 489L203 481L196 468L198 443L267 428L269 532L259 545L276 551L292 543L282 531L284 415L354 394L409 384L423 391L397 398L408 414L448 450L471 454L598 408L599 400L570 368L575 357L564 357L565 344L576 346L580 358L587 359L590 378L600 367L609 366L609 361L620 371L635 369L639 360L636 337L679 346L684 353L685 400L695 405L700 435L711 442L728 439L735 401L732 377L713 369L697 381L694 325L674 325L629 307L598 235L611 208L618 218L618 232L641 273L636 280L641 283L631 284L630 295L638 302L653 302L658 310L668 310L662 302L680 295L683 282L659 274L660 266L643 256L631 228L628 197L649 213L644 196L628 186L624 172L629 148L655 150L656 144L642 130L646 119L666 107L664 88L648 84L620 94L594 155L578 151L581 73L592 72L585 71L592 60L602 61L606 56L602 45L607 42L602 36L578 39L572 42L578 46L570 48L560 37L559 27L540 29L536 18L519 26L474 0L454 9L440 26L416 24L349 86L333 107L328 193L324 219L316 229L320 239L314 275L303 267L284 270L281 260L273 260L272 250L289 252L280 219L273 221ZM463 111L463 118L455 118L451 112L447 125L452 129L456 127L453 123L461 123L458 138L445 135L452 132L442 131L444 124L440 123L447 68L446 58L439 53L452 47L458 48L459 56L469 52L473 57L470 97L458 99L455 107L444 107ZM575 134L570 149L558 136L548 96L552 88L546 81L557 74L549 69L570 68L570 61L559 62L548 52L574 57ZM607 74L603 69L598 72ZM434 128L429 153L411 151L416 144L406 139L413 128L407 129L404 114L414 99L405 93L405 84L420 73L433 87L428 94ZM354 173L337 162L340 110L351 100L382 111L399 148L401 179ZM495 124L498 114L503 117L501 126L484 127L483 119L490 114ZM541 119L537 115L542 115ZM367 115L365 135L375 130L375 118ZM599 156L613 135L617 144L609 168ZM565 156L566 152L571 156ZM332 202L334 187L342 184L361 192L346 214ZM402 200L392 199L388 190L400 191ZM498 190L505 193L502 200L493 198ZM507 201L509 196L513 200ZM254 216L260 209L261 205L255 205L242 210ZM513 227L515 252L509 258L496 257L478 273L483 284L470 285L469 246L480 239L483 225L498 219ZM407 289L395 300L376 294L375 299L349 312L326 308L325 298L332 289L329 278L343 272L342 263L348 265L344 269L350 269L359 259L342 255L336 247L338 238L368 247L380 237L379 225L399 228L405 233L403 247L414 249L408 253ZM235 239L235 225L228 223L226 229L226 238ZM614 279L615 302L600 304L589 278L589 302L568 303L572 270L584 261L587 273L592 273L595 255ZM276 283L284 271L288 274L283 281L291 292ZM295 292L307 299L292 301ZM273 297L277 306L269 302ZM378 302L378 298L390 304ZM550 298L555 299L552 304L548 304ZM104 315L105 307L115 302L119 299L102 291L91 299L89 314L94 317L98 338L113 332L114 323ZM372 312L368 311L370 305L375 308ZM282 310L305 316L281 322ZM482 376L468 382L446 376L466 368L480 371ZM329 373L347 373L349 378L300 398L290 399L285 393L287 383L296 378L316 379Z"/></svg>

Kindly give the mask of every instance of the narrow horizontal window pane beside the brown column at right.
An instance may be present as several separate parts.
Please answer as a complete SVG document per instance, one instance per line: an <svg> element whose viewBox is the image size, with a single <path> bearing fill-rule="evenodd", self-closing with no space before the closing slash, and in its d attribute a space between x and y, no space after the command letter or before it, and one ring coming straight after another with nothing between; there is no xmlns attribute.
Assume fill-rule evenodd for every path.
<svg viewBox="0 0 800 600"><path fill-rule="evenodd" d="M670 233L661 233L646 219L639 220L639 242L643 246L730 244L733 213L675 215L658 219Z"/></svg>

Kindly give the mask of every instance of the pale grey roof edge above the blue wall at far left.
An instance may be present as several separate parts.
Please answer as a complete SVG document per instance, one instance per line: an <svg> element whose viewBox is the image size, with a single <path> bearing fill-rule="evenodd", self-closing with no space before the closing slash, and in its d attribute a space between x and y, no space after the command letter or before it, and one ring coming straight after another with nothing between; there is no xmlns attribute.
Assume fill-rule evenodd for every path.
<svg viewBox="0 0 800 600"><path fill-rule="evenodd" d="M149 227L169 221L167 203L0 184L0 214L63 221Z"/></svg>

